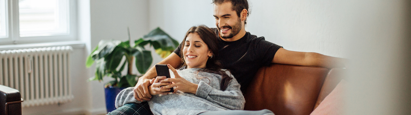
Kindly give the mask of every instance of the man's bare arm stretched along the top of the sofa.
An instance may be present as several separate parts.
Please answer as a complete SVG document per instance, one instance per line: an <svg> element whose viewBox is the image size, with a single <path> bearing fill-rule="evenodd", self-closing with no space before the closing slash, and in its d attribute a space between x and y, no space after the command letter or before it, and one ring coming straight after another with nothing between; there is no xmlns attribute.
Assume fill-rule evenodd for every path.
<svg viewBox="0 0 411 115"><path fill-rule="evenodd" d="M302 66L316 66L322 68L344 68L348 59L326 56L314 52L295 52L278 49L272 59L272 63L302 65Z"/></svg>

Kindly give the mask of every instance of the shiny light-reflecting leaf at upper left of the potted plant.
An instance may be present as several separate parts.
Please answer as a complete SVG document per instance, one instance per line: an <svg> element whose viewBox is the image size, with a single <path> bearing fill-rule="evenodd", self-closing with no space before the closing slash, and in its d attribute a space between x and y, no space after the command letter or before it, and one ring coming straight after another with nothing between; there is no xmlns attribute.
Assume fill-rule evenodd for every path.
<svg viewBox="0 0 411 115"><path fill-rule="evenodd" d="M114 48L119 45L121 41L106 41L102 40L99 42L97 45L97 50L91 54L93 60L98 60L101 59L107 55L109 55L111 52L113 52Z"/></svg>

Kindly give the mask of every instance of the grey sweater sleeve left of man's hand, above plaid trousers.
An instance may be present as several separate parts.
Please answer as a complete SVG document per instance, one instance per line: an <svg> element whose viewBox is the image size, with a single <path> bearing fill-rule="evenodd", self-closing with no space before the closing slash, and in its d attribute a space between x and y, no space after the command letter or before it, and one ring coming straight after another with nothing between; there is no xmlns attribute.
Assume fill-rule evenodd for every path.
<svg viewBox="0 0 411 115"><path fill-rule="evenodd" d="M141 103L141 101L134 99L133 89L134 87L126 88L118 93L117 97L115 97L115 108L119 108L124 104L129 103Z"/></svg>

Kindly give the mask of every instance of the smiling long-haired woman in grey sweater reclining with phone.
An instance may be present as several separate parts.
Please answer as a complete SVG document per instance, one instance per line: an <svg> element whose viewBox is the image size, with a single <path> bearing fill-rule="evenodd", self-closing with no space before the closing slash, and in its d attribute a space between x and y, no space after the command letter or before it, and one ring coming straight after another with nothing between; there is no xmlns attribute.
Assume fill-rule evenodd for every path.
<svg viewBox="0 0 411 115"><path fill-rule="evenodd" d="M148 104L152 113L156 115L208 115L215 114L209 111L223 112L222 110L242 110L244 108L245 99L240 91L240 84L230 76L229 71L222 70L217 61L217 41L212 29L204 25L189 29L182 41L184 46L180 50L182 67L175 70L168 65L173 73L171 78L159 80L161 77L157 77L151 80L152 85L149 86L149 92L153 96ZM173 87L175 87L173 93L164 92ZM156 94L153 90L163 92ZM115 103L118 108L125 104L141 102L134 99L133 88L127 88L118 94ZM238 114L235 111L224 112ZM245 112L256 111L240 111L240 113ZM266 113L266 111L262 112Z"/></svg>

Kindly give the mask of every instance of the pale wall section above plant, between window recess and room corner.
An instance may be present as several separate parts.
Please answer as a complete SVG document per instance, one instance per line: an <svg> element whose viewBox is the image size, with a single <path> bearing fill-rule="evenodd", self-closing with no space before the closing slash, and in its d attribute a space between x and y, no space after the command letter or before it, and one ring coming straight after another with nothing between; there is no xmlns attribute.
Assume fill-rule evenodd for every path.
<svg viewBox="0 0 411 115"><path fill-rule="evenodd" d="M148 0L90 0L91 47L100 40L132 41L148 33Z"/></svg>

